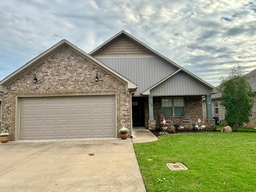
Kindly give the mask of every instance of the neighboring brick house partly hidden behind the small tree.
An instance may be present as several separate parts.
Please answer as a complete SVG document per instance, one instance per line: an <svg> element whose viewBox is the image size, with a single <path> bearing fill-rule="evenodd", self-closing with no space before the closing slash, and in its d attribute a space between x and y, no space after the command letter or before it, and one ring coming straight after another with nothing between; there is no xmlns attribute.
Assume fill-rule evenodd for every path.
<svg viewBox="0 0 256 192"><path fill-rule="evenodd" d="M249 76L249 83L252 87L254 93L256 93L256 69L252 70L251 72L245 74ZM220 85L217 86L220 88ZM256 126L256 97L254 97L254 105L252 107L252 116L250 117L250 122L248 123L249 126ZM204 118L206 117L206 102L203 98L202 100L203 105L203 114ZM216 119L216 124L221 123L221 120L225 118L225 108L221 105L221 93L212 94L212 116Z"/></svg>

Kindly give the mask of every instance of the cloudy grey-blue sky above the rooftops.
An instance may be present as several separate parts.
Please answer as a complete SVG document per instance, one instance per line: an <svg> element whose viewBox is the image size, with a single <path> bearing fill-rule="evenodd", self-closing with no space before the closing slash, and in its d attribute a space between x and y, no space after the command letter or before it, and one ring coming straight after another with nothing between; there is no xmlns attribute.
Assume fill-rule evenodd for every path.
<svg viewBox="0 0 256 192"><path fill-rule="evenodd" d="M256 68L255 0L70 2L0 2L0 79L64 38L90 52L121 30L214 86Z"/></svg>

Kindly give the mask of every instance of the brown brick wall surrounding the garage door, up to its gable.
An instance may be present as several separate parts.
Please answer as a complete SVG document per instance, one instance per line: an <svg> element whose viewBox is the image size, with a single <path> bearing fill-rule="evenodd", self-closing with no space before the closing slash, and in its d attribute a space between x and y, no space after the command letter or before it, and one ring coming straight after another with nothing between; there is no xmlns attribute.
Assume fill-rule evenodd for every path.
<svg viewBox="0 0 256 192"><path fill-rule="evenodd" d="M98 72L99 82L95 82ZM38 82L33 83L36 74ZM117 128L130 124L130 92L123 82L69 48L64 48L8 86L2 98L2 131L14 140L16 96L116 94Z"/></svg>

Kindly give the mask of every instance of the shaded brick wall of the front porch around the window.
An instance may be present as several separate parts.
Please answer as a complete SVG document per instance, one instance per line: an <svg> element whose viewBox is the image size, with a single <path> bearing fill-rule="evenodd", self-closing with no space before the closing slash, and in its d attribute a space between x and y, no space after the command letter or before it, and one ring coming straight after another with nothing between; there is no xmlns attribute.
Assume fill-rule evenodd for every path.
<svg viewBox="0 0 256 192"><path fill-rule="evenodd" d="M154 120L156 120L156 126L160 126L160 119L158 113L162 111L162 98L170 98L172 96L157 96L153 97L153 110L154 110ZM202 96L183 96L185 111L191 113L192 122L197 122L198 118L203 119L203 109L202 109ZM148 98L145 98L145 126L148 125ZM172 117L171 124L182 125L181 117Z"/></svg>

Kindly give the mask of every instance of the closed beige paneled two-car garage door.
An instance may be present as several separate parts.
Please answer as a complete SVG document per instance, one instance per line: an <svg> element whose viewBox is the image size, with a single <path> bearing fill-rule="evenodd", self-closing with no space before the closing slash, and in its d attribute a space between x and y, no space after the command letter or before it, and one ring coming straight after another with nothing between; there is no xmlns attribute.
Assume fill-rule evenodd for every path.
<svg viewBox="0 0 256 192"><path fill-rule="evenodd" d="M20 139L116 137L114 95L20 100Z"/></svg>

